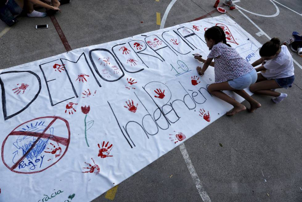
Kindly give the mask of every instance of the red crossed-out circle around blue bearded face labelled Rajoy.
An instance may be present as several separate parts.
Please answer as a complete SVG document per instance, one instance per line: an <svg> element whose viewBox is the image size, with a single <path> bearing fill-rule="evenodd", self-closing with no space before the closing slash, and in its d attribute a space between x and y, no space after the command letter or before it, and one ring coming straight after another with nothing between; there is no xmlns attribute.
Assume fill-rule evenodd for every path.
<svg viewBox="0 0 302 202"><path fill-rule="evenodd" d="M43 125L42 124L42 126L43 127L45 127L44 129L43 129L43 132L42 133L37 133L37 132L34 132L34 130L32 130L32 131L17 131L17 129L18 128L22 128L22 129L25 129L26 127L25 127L25 125L27 126L27 128L30 128L28 125L27 125L27 123L30 123L30 122L33 122L33 121L37 121L36 122L36 125L37 125L37 123L38 123L38 121L43 121L43 124L47 121L48 122L48 124L47 124L47 126L45 126L45 125ZM42 122L41 121L41 122ZM62 123L61 123L61 121L62 121ZM40 123L41 123L40 122ZM55 135L53 135L53 134L49 134L49 133L46 133L49 129L50 129L50 127L53 125L53 124L57 124L57 123L59 123L59 127L61 127L62 126L62 124L63 124L63 126L65 127L65 125L66 125L66 131L67 131L67 133L68 134L61 134L60 136L55 136ZM40 125L40 124L39 124ZM31 123L31 127L35 127L35 126L33 126L32 125L32 123ZM53 128L52 128L53 129ZM4 155L4 149L5 149L5 145L6 145L6 143L7 143L7 146L9 145L9 141L7 142L7 140L10 138L10 143L11 143L11 141L14 141L14 138L12 138L12 137L15 137L15 136L24 136L23 137L23 139L26 139L26 138L28 138L28 137L33 137L33 140L34 140L34 142L33 143L31 143L31 146L30 146L30 148L29 149L27 149L27 151L25 152L25 154L24 154L24 151L23 151L23 154L22 154L22 156L20 157L20 158L18 158L18 160L16 161L16 162L14 162L14 158L12 159L12 163L11 163L11 165L8 165L6 162L5 162L5 155ZM64 137L64 136L66 136L66 137ZM26 137L26 138L25 138ZM36 139L34 139L36 137ZM22 171L18 171L18 170L16 170L17 168L19 168L20 169L20 162L24 162L23 160L24 160L24 158L27 158L27 155L33 150L33 149L35 149L35 146L36 146L36 144L39 142L39 140L40 139L44 139L44 140L47 140L47 142L46 142L46 144L48 143L48 141L52 141L52 142L54 142L54 143L56 143L56 144L60 144L62 147L64 146L65 148L62 150L63 151L63 154L60 154L59 156L59 158L58 159L55 159L55 162L46 162L47 163L47 167L45 167L45 168L43 168L42 167L42 169L41 170L36 170L36 171L29 171L29 172L22 172ZM17 139L17 141L18 141L18 139ZM16 142L17 142L16 141ZM46 170L47 168L49 168L49 167L51 167L51 166L53 166L53 165L55 165L61 158L63 158L63 156L66 154L66 152L67 152L67 149L68 149L68 146L69 146L69 142L70 142L70 128L69 128L69 123L68 123L68 121L67 120L65 120L65 119L63 119L63 118L61 118L61 117L58 117L58 116L44 116L44 117L39 117L39 118L35 118L35 119L32 119L32 120L29 120L29 121L26 121L26 122L24 122L24 123L22 123L22 124L20 124L20 125L18 125L16 128L14 128L13 130L12 130L12 132L10 132L10 134L8 134L7 136L6 136L6 138L4 139L4 141L3 141L3 143L2 143L2 148L1 148L1 157L2 157L2 162L4 163L4 165L8 168L8 169L10 169L11 171L13 171L13 172L16 172L16 173L23 173L23 174L32 174L32 173L38 173L38 172L42 172L43 170ZM18 143L17 143L18 144ZM39 143L38 143L39 144ZM51 145L53 145L52 143L50 143ZM37 145L38 146L38 145ZM47 149L49 149L49 148L47 148ZM43 151L42 151L43 152ZM9 153L9 152L8 152ZM47 152L47 153L51 153L51 152ZM18 152L17 152L17 154L18 154ZM43 153L44 154L44 153ZM51 153L51 154L55 154L55 153ZM45 156L45 155L44 155ZM43 157L44 157L43 156ZM14 156L15 157L15 156ZM37 159L36 159L37 160ZM46 159L45 159L46 160ZM51 159L49 159L49 160L51 160ZM48 160L48 161L49 161ZM40 161L40 160L39 160ZM38 161L38 162L39 162ZM43 158L42 158L42 162L43 162ZM41 162L41 165L42 165L42 162ZM33 162L33 163L35 163L35 162ZM48 165L48 164L50 164L50 165ZM24 164L22 164L22 165L24 165ZM26 165L26 163L25 163L25 165ZM41 165L40 165L40 168L41 168ZM29 165L28 165L29 166ZM32 165L31 165L32 166ZM37 165L38 166L38 165ZM23 167L22 167L23 168ZM34 167L34 169L35 169L35 167ZM31 169L30 169L31 170Z"/></svg>

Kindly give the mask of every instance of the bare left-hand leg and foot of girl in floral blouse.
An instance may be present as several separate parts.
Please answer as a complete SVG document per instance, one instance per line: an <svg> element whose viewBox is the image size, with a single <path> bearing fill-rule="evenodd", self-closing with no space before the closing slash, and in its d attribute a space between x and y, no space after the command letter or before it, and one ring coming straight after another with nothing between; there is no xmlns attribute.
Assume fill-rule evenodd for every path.
<svg viewBox="0 0 302 202"><path fill-rule="evenodd" d="M221 90L236 90L236 89L232 88L227 81L222 83L213 83L208 87L208 91L210 92L210 94L215 95L219 99L222 99L223 101L226 101L227 103L234 106L232 110L227 112L228 116L234 116L238 112L246 110L246 107L243 104L237 102L235 99L231 98L224 92L221 92Z"/></svg>

